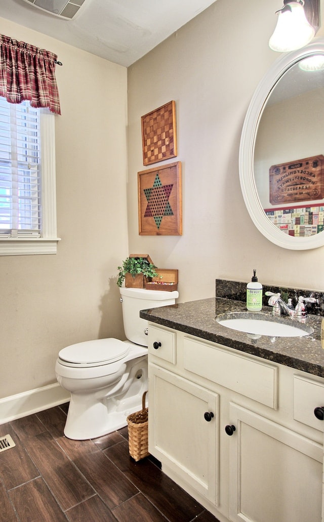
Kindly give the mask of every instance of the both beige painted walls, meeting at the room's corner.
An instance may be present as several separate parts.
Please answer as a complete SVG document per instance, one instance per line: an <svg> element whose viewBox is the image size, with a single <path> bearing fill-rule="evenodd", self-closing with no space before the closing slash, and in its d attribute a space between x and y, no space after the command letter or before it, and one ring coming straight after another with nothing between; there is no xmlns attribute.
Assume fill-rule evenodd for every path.
<svg viewBox="0 0 324 522"><path fill-rule="evenodd" d="M63 62L56 69L62 241L57 255L0 257L0 397L54 383L57 353L70 343L124 338L115 278L129 252L178 268L180 301L214 295L216 277L248 281L255 267L261 282L324 289L324 247L289 251L263 238L239 186L242 125L279 56L268 39L280 7L218 0L129 67L128 79L123 67L0 18L1 33ZM140 117L170 100L178 129L178 157L170 161L183 164L183 235L139 236Z"/></svg>

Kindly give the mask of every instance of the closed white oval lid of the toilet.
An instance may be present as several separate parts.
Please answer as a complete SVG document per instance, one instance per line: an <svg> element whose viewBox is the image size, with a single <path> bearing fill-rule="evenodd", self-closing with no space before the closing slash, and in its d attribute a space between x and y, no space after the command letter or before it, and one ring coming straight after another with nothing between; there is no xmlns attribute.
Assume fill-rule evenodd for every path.
<svg viewBox="0 0 324 522"><path fill-rule="evenodd" d="M66 366L100 366L119 361L128 352L129 346L119 339L95 339L63 348L58 358Z"/></svg>

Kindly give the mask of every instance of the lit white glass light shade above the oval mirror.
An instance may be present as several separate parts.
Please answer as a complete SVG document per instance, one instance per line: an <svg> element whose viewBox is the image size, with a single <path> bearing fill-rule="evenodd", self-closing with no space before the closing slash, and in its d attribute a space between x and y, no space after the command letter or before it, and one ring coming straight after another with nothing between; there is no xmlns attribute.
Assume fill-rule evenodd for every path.
<svg viewBox="0 0 324 522"><path fill-rule="evenodd" d="M315 36L315 29L308 23L304 7L297 2L280 11L277 26L269 40L270 49L278 52L295 51L307 45Z"/></svg>

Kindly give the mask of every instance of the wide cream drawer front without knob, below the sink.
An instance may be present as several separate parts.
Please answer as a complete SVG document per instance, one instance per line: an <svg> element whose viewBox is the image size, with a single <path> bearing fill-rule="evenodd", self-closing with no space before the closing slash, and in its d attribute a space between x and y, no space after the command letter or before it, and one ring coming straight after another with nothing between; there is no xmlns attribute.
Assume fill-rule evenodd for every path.
<svg viewBox="0 0 324 522"><path fill-rule="evenodd" d="M184 338L185 370L277 409L278 368L221 345Z"/></svg>

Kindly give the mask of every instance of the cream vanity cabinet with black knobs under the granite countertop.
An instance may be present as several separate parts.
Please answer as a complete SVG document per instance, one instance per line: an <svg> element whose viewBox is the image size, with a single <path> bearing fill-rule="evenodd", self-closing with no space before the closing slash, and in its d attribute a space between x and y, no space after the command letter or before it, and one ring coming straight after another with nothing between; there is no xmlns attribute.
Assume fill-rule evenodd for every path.
<svg viewBox="0 0 324 522"><path fill-rule="evenodd" d="M324 379L149 323L149 452L221 522L321 522Z"/></svg>

